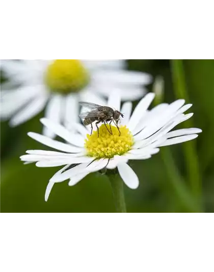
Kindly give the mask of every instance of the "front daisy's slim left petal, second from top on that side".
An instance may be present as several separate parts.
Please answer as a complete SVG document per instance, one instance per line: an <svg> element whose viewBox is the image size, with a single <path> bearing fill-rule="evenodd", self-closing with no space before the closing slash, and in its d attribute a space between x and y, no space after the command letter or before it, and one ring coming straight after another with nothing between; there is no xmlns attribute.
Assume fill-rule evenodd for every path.
<svg viewBox="0 0 214 272"><path fill-rule="evenodd" d="M52 140L46 136L40 135L38 133L34 133L34 132L29 132L28 136L33 138L34 140L52 147L53 149L56 150L60 150L60 151L64 151L64 152L70 152L70 153L78 153L78 152L82 152L83 149L81 147L75 147L75 146L71 146L70 144L66 144L66 143L62 143L56 140Z"/></svg>

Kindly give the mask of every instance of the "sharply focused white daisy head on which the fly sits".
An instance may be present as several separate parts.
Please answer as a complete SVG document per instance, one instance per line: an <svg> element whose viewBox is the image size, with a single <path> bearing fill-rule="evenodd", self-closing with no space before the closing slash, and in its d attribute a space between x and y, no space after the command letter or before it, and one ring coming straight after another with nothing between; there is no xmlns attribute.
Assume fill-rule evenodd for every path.
<svg viewBox="0 0 214 272"><path fill-rule="evenodd" d="M139 178L128 165L129 160L145 160L159 152L159 147L190 141L201 132L197 128L171 131L179 123L189 119L193 113L184 114L192 105L184 105L184 100L172 104L160 104L148 110L154 93L148 93L131 114L132 104L126 102L120 109L120 95L111 94L108 105L124 114L118 129L112 125L113 135L102 124L99 137L96 127L73 123L72 132L52 120L42 118L41 122L49 130L67 143L52 140L46 136L30 132L34 140L51 147L55 151L29 150L20 157L26 164L36 162L38 167L64 166L50 180L45 192L45 201L55 183L69 180L73 186L92 172L105 169L118 169L119 175L130 189L137 189ZM109 125L108 125L109 126ZM110 129L110 127L109 127Z"/></svg>

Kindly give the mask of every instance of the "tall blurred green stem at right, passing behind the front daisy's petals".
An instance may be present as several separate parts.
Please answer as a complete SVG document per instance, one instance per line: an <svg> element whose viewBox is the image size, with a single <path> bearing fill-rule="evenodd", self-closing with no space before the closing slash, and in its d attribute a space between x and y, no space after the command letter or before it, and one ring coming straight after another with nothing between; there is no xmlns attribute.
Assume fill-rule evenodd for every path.
<svg viewBox="0 0 214 272"><path fill-rule="evenodd" d="M174 92L176 98L183 98L186 102L189 102L189 95L186 90L184 67L182 59L171 59L172 78L174 85ZM190 127L194 127L192 119L185 121L185 124ZM201 198L202 181L199 171L199 162L196 151L196 142L189 141L182 144L184 149L184 155L186 160L188 180L193 194L196 197Z"/></svg>

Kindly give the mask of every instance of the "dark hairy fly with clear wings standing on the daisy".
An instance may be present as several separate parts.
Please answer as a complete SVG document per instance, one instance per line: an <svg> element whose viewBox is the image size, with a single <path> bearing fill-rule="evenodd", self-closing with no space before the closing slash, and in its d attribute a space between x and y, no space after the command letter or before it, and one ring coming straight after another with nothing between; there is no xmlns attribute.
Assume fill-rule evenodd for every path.
<svg viewBox="0 0 214 272"><path fill-rule="evenodd" d="M113 121L115 123L115 126L117 127L119 133L120 133L120 130L118 128L118 122L120 120L120 116L123 117L123 114L121 112L119 112L117 110L113 110L112 108L107 107L107 106L100 106L100 105L88 103L88 102L79 102L79 104L83 107L92 109L92 111L84 112L79 115L79 117L84 119L83 123L85 126L91 125L91 135L92 135L92 131L93 131L92 123L95 121L97 121L96 127L97 127L98 137L99 137L99 128L97 125L100 122L104 123L104 125L108 131L109 131L109 129L106 126L106 124L108 124L108 122L110 122L109 125L110 125L111 131L109 131L109 133L113 134L112 128L111 128L111 123ZM120 133L120 135L121 135L121 133Z"/></svg>

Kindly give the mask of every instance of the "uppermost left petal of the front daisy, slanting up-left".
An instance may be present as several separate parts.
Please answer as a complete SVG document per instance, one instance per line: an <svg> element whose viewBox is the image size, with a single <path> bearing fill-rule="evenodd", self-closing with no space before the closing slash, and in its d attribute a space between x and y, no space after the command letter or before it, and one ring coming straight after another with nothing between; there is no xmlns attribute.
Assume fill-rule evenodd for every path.
<svg viewBox="0 0 214 272"><path fill-rule="evenodd" d="M51 120L48 120L46 118L42 118L40 119L40 121L49 130L51 130L58 136L62 137L67 142L79 147L84 147L84 138L81 135L75 135L73 133L70 133L67 129L65 129L60 124L52 122Z"/></svg>

